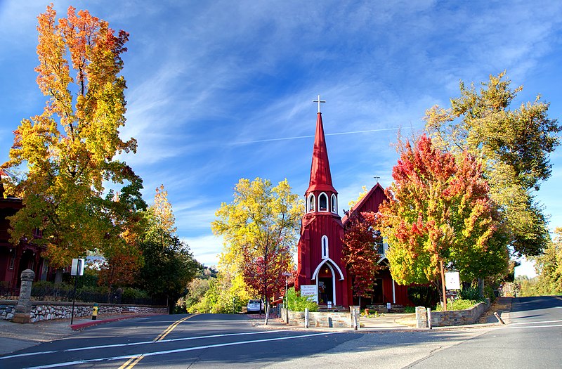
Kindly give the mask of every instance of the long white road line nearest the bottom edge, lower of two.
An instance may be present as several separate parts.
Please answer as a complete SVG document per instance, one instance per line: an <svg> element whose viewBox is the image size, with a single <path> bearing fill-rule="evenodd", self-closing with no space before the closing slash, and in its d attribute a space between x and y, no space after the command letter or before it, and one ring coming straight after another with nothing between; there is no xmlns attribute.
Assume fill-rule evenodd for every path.
<svg viewBox="0 0 562 369"><path fill-rule="evenodd" d="M202 349L213 349L213 348L216 348L216 347L236 346L238 344L254 344L254 343L261 343L261 342L281 341L281 340L284 340L284 339L298 339L298 338L315 337L315 336L322 336L322 335L334 335L336 333L339 333L339 332L322 332L322 333L313 333L311 335L277 337L277 338L266 338L266 339L253 339L251 341L228 342L228 343L224 343L224 344L208 344L208 345L205 345L205 346L185 347L183 349L175 349L175 350L156 351L156 352L148 352L148 353L142 353L142 354L125 355L125 356L110 356L110 357L107 357L107 358L91 358L91 359L88 359L88 360L67 361L66 363L56 363L56 364L51 364L51 365L30 366L26 369L60 368L60 367L63 367L63 366L79 365L79 364L84 364L84 363L94 363L94 362L97 362L97 361L125 360L125 359L136 357L136 356L139 356L139 355L158 356L158 355L166 355L166 354L177 354L178 352L185 352L185 351L195 351L195 350L202 350Z"/></svg>

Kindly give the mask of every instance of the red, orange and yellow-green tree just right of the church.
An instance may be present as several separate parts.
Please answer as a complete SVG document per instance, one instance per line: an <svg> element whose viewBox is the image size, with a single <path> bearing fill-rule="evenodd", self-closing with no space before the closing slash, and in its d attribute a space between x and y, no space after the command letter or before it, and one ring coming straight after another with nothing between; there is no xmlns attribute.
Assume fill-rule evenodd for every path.
<svg viewBox="0 0 562 369"><path fill-rule="evenodd" d="M388 201L377 226L388 240L386 257L401 285L439 285L440 261L474 280L507 268L507 239L476 158L457 160L421 136L400 145Z"/></svg>

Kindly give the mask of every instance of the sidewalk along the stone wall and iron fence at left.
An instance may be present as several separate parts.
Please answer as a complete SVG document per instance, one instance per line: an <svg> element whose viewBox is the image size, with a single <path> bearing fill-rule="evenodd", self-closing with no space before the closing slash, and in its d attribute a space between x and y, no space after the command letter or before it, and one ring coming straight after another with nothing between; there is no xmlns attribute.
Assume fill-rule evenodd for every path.
<svg viewBox="0 0 562 369"><path fill-rule="evenodd" d="M0 355L9 354L14 351L27 349L43 342L50 342L75 334L78 330L91 325L120 321L122 319L139 318L141 316L152 316L155 314L119 314L115 316L98 316L92 321L90 316L74 318L70 325L70 319L57 321L41 321L37 323L19 324L0 320Z"/></svg>

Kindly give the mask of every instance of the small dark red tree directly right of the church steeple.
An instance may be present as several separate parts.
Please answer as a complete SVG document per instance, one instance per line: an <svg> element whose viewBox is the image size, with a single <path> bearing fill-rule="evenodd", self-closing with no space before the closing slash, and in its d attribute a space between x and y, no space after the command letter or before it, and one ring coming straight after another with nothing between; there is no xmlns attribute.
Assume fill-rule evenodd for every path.
<svg viewBox="0 0 562 369"><path fill-rule="evenodd" d="M372 212L348 212L348 221L344 228L344 247L342 261L353 279L353 295L371 297L375 277L380 269L377 244L382 242L381 234L373 227Z"/></svg>

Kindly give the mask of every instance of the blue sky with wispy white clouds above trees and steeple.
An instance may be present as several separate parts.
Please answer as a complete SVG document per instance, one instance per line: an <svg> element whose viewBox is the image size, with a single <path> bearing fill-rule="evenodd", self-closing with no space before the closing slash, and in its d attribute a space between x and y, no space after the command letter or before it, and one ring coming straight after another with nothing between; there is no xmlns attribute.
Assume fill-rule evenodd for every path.
<svg viewBox="0 0 562 369"><path fill-rule="evenodd" d="M509 4L507 4L509 3ZM39 114L37 15L47 1L0 0L0 161L12 131ZM308 186L318 93L341 209L362 186L391 183L401 128L446 106L459 80L507 70L517 107L542 94L561 117L562 4L558 1L55 1L126 30L126 127L131 164L150 201L161 183L178 235L216 264L215 210L244 177ZM283 139L280 139L283 138ZM538 198L562 226L562 155Z"/></svg>

